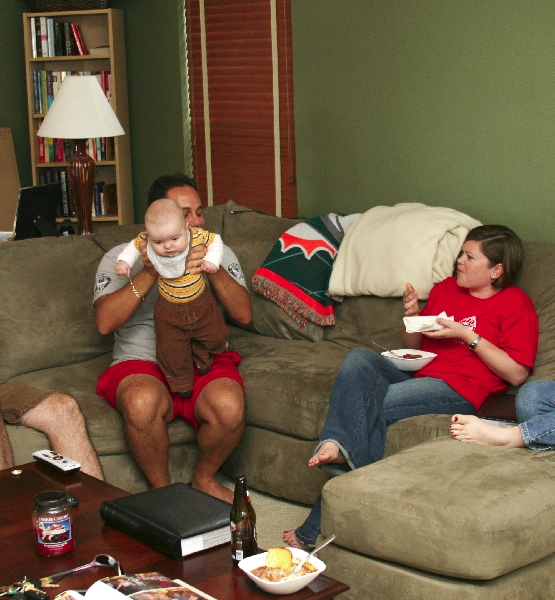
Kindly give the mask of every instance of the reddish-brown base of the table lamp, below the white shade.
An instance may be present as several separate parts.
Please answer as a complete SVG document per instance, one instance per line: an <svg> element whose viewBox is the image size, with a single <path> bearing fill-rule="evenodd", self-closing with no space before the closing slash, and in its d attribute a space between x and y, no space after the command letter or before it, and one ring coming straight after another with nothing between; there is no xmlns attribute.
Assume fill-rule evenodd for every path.
<svg viewBox="0 0 555 600"><path fill-rule="evenodd" d="M73 200L77 208L77 234L92 233L92 206L96 165L87 154L87 140L73 140L73 157L67 163Z"/></svg>

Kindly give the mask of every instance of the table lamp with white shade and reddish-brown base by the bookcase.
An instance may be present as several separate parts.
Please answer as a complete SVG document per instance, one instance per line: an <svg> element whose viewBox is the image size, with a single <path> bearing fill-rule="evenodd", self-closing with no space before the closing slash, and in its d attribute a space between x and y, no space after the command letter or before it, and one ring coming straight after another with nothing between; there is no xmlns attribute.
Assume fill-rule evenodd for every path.
<svg viewBox="0 0 555 600"><path fill-rule="evenodd" d="M87 154L87 139L124 133L96 77L73 75L64 79L37 136L73 141L73 157L67 166L79 235L92 233L95 162Z"/></svg>

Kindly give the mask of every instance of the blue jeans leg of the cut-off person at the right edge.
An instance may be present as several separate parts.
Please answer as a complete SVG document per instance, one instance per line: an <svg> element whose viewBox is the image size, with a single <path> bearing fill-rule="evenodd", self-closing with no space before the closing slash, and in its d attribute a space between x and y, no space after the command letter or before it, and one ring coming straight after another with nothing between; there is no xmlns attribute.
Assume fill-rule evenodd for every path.
<svg viewBox="0 0 555 600"><path fill-rule="evenodd" d="M531 381L516 395L516 416L532 450L555 450L555 381Z"/></svg>

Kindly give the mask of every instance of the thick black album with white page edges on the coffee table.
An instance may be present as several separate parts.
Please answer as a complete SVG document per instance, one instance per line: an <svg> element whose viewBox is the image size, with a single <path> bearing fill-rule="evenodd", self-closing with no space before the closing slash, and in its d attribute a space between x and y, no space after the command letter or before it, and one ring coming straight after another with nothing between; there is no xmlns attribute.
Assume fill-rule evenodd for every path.
<svg viewBox="0 0 555 600"><path fill-rule="evenodd" d="M184 483L173 483L100 507L104 521L126 535L180 560L231 540L231 506Z"/></svg>

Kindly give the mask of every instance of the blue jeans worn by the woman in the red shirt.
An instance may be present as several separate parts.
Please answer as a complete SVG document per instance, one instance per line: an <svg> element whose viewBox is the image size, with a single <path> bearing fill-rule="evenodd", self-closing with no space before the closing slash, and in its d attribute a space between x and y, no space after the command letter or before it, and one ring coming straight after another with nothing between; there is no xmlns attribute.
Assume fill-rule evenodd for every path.
<svg viewBox="0 0 555 600"><path fill-rule="evenodd" d="M337 374L316 451L324 442L337 444L347 464L329 464L323 469L339 475L381 460L392 423L417 415L453 413L475 414L476 409L441 379L415 379L380 354L355 348L345 355ZM300 542L316 543L320 517L321 496L295 531Z"/></svg>

